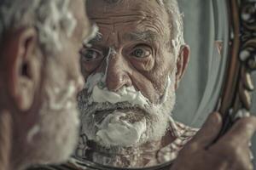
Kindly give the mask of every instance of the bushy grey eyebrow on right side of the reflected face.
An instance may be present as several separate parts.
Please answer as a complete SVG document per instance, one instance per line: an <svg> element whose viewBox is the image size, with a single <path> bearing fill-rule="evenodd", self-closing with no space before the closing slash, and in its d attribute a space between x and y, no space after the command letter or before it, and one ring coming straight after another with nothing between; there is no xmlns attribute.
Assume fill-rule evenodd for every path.
<svg viewBox="0 0 256 170"><path fill-rule="evenodd" d="M130 41L143 41L154 42L158 39L159 35L155 31L133 31L125 35L125 39Z"/></svg>

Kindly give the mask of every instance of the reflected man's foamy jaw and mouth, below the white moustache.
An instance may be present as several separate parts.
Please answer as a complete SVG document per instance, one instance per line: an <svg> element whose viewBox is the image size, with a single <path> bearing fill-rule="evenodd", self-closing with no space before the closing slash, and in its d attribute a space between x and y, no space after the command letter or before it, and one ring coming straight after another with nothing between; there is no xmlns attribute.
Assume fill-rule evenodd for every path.
<svg viewBox="0 0 256 170"><path fill-rule="evenodd" d="M168 126L169 115L159 113L156 107L142 109L125 102L117 105L95 104L89 108L81 116L81 134L106 148L138 147L160 140Z"/></svg>

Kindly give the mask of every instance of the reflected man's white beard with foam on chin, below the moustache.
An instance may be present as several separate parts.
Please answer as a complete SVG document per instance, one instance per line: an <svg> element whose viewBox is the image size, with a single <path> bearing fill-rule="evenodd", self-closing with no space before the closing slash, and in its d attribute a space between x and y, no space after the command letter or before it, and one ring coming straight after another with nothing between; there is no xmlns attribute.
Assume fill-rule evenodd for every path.
<svg viewBox="0 0 256 170"><path fill-rule="evenodd" d="M133 105L131 101L133 102L134 99L131 98L129 101L129 94L125 94L125 99L128 101L120 99L122 102L114 103L109 96L113 94L112 92L105 98L108 101L96 103L92 101L90 95L87 95L87 89L84 89L79 93L78 99L79 110L82 112L81 138L85 135L89 140L105 148L137 147L147 142L159 141L166 134L169 117L175 104L174 81L175 76L170 77L163 95L165 99L158 105L151 103L140 105L145 102L137 102ZM93 94L93 88L90 89ZM98 92L98 96L104 99L106 89L102 91L104 92ZM119 92L117 94L119 95ZM131 93L133 94L134 92Z"/></svg>

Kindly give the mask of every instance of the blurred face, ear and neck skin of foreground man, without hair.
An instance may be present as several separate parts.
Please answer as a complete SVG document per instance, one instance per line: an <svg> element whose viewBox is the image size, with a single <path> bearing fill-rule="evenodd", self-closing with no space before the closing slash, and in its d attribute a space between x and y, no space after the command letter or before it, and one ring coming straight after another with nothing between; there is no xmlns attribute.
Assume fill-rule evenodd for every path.
<svg viewBox="0 0 256 170"><path fill-rule="evenodd" d="M3 40L0 111L13 122L10 169L66 161L77 143L76 95L84 85L78 52L90 23L83 0L71 1L70 11L77 26L72 37L60 32L62 48L55 54L39 48L33 27L9 31Z"/></svg>

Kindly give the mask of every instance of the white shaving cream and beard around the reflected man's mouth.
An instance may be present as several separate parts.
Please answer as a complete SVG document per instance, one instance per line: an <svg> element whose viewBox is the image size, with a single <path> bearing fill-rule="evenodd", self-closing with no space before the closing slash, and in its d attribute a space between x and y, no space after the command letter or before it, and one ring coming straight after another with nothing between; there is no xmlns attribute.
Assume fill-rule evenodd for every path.
<svg viewBox="0 0 256 170"><path fill-rule="evenodd" d="M79 109L82 111L81 119L83 122L81 134L104 147L127 147L161 139L166 133L168 117L175 101L174 83L172 83L175 77L167 77L166 89L159 104L152 104L132 86L120 88L117 92L109 91L106 88L104 77L104 73L96 73L88 77L84 94L79 94ZM84 95L85 98L83 98ZM129 103L129 105L127 106L125 103ZM130 123L129 118L125 117L131 116L130 113L126 111L122 111L122 114L120 111L119 113L114 112L116 108L131 107L140 108L148 115L140 121ZM108 111L113 110L113 112L107 113L108 116L106 116L106 114L102 114L104 108ZM139 113L135 111L134 114L136 116ZM96 117L97 120L102 117L102 123L97 124Z"/></svg>

